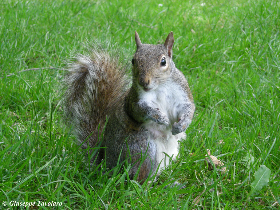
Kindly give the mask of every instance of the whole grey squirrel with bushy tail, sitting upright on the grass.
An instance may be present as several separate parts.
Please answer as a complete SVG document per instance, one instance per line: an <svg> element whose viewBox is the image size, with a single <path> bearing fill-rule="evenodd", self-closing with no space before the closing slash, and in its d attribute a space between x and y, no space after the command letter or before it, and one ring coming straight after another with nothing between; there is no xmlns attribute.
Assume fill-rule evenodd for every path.
<svg viewBox="0 0 280 210"><path fill-rule="evenodd" d="M176 159L195 105L172 61L173 32L164 45L142 44L136 31L135 41L132 83L118 53L95 45L76 55L63 80L63 107L81 147L103 148L91 150L95 165L105 160L112 169L127 160L129 177L141 182Z"/></svg>

